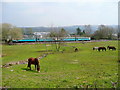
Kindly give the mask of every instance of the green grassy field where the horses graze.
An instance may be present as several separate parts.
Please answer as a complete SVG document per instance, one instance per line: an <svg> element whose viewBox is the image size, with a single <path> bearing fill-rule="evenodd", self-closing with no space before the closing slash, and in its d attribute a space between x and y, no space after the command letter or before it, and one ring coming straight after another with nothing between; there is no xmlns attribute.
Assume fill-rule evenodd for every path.
<svg viewBox="0 0 120 90"><path fill-rule="evenodd" d="M51 44L3 45L2 64L38 57L48 50L40 60L41 71L27 70L27 64L2 68L2 86L8 88L113 88L118 80L118 42L64 43L56 52ZM95 46L115 46L116 51L93 51ZM79 48L74 52L71 46ZM50 51L52 50L52 51Z"/></svg>

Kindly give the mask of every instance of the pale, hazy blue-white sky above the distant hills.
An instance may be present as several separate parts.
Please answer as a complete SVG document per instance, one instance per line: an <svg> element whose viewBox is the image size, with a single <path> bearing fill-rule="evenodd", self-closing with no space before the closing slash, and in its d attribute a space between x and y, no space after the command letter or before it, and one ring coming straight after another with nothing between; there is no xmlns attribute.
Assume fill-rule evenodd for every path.
<svg viewBox="0 0 120 90"><path fill-rule="evenodd" d="M119 0L2 0L1 23L15 26L117 25ZM1 9L2 8L2 9Z"/></svg>

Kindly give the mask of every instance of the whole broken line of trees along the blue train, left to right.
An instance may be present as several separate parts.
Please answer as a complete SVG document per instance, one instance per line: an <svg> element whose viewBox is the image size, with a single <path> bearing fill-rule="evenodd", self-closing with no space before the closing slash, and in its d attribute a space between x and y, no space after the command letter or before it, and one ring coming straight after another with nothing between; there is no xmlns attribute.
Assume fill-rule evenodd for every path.
<svg viewBox="0 0 120 90"><path fill-rule="evenodd" d="M23 35L27 34L29 38L33 35L33 31L31 28L28 28L26 32L18 28L16 26L13 26L9 23L2 23L0 24L1 27L1 37L2 41L8 42L11 40L19 40L23 38ZM69 34L64 28L56 29L51 27L51 32L47 37L51 37L54 40L62 39L62 37L68 37L71 36L80 36L80 37L91 37L92 39L99 40L99 39L117 39L118 34L118 28L109 27L106 25L99 25L98 29L93 32L91 25L85 25L84 30L81 30L80 27L76 28L76 33Z"/></svg>

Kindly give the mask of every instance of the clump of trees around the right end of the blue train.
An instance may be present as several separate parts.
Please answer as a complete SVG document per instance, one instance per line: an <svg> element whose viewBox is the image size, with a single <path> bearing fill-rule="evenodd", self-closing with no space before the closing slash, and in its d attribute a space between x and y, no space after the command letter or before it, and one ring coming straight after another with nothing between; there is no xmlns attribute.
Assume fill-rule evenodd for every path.
<svg viewBox="0 0 120 90"><path fill-rule="evenodd" d="M85 25L84 30L81 30L79 27L76 29L76 35L91 37L93 40L114 40L118 38L118 27L99 25L98 29L93 32L91 25Z"/></svg>

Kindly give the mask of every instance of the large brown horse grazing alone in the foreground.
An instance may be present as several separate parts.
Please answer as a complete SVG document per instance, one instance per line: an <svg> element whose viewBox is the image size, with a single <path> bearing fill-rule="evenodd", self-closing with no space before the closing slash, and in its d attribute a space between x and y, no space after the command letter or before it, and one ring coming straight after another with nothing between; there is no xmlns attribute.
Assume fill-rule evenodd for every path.
<svg viewBox="0 0 120 90"><path fill-rule="evenodd" d="M28 59L28 67L30 68L30 70L31 70L31 64L34 64L35 70L37 69L37 71L40 72L40 65L39 65L39 61L37 58L29 58ZM37 66L37 68L36 68L36 66Z"/></svg>

